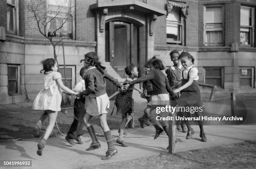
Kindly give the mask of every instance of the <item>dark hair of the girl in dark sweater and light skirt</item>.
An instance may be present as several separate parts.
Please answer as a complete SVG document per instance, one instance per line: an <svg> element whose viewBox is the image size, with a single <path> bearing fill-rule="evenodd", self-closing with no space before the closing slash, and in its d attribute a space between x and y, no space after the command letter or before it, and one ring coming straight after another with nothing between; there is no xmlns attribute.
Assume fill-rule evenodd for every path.
<svg viewBox="0 0 256 169"><path fill-rule="evenodd" d="M89 52L89 53L85 54L84 61L87 64L89 64L90 66L95 66L97 68L97 70L99 70L102 75L104 74L104 70L106 69L106 67L101 65L97 53Z"/></svg>

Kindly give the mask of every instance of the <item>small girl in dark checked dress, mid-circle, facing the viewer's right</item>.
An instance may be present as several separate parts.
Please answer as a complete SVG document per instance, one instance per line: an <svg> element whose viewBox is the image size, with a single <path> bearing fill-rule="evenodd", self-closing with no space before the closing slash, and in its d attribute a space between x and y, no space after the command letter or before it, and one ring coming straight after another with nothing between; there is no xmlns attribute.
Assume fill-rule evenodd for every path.
<svg viewBox="0 0 256 169"><path fill-rule="evenodd" d="M135 65L131 64L125 67L125 73L129 77L126 78L124 84L131 82L135 77L138 77L138 68ZM131 120L131 118L128 117L133 117L133 89L142 93L142 91L136 89L134 85L131 85L125 91L120 91L120 94L118 94L117 98L115 99L117 115L122 117L122 122L119 127L119 137L116 142L121 144L123 147L128 147L128 145L125 144L123 140L123 134L126 124L128 124L128 122Z"/></svg>

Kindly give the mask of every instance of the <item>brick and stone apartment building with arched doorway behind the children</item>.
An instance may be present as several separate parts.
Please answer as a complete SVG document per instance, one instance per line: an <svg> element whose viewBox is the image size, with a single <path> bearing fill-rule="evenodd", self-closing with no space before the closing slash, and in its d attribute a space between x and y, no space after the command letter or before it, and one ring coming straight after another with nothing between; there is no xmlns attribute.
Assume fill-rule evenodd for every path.
<svg viewBox="0 0 256 169"><path fill-rule="evenodd" d="M43 87L40 61L53 57L53 47L38 31L28 5L34 0L0 1L0 104L20 102L24 84L30 99ZM152 56L166 66L169 52L187 50L195 57L199 82L223 90L255 92L256 34L254 0L36 0L40 15L51 18L74 5L69 21L54 33L60 72L78 80L83 55L95 51L108 72L122 80L131 62L142 66ZM49 22L56 29L64 14ZM109 85L109 84L108 84ZM108 86L108 92L111 90Z"/></svg>

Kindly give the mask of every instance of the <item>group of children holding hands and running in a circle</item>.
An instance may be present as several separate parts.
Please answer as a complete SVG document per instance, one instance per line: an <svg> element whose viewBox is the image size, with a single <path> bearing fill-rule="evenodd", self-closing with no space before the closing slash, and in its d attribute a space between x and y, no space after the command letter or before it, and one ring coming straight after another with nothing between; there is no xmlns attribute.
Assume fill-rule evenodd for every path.
<svg viewBox="0 0 256 169"><path fill-rule="evenodd" d="M37 154L42 155L42 151L46 145L46 141L51 134L58 111L61 110L61 93L76 95L74 101L74 121L69 128L66 139L74 145L74 140L78 144L83 144L79 136L82 135L82 128L84 125L92 138L92 144L87 151L99 149L101 147L100 142L97 139L94 128L90 125L90 119L93 116L98 116L100 126L104 132L108 151L102 160L109 159L113 155L118 153L117 149L113 145L113 139L107 123L107 113L110 106L109 99L117 95L115 105L117 107L117 114L122 117L122 122L119 127L119 137L116 140L118 144L124 147L128 145L124 142L123 135L125 126L133 118L133 89L136 89L141 93L143 98L148 101L147 107L144 110L143 117L139 118L141 127L143 124L151 125L154 124L156 129L156 135L154 139L159 137L161 132L165 131L169 136L169 127L166 121L160 121L161 126L158 125L157 120L151 114L151 111L159 105L169 104L170 100L196 100L196 104L202 104L202 98L200 95L200 89L196 81L198 80L197 68L193 66L194 58L188 52L179 52L174 50L170 53L171 60L174 66L166 70L166 75L162 72L164 65L162 60L156 59L156 57L149 60L145 68L143 69L144 75L138 77L138 68L131 64L125 68L125 73L128 75L127 79L121 85L118 80L109 75L99 62L99 57L95 52L89 52L84 55L84 67L80 70L82 80L80 80L74 89L69 89L63 85L61 80L61 74L57 72L58 65L54 59L46 59L42 61L44 77L44 89L42 89L37 95L33 109L44 110L39 121L33 127L33 135L39 137L42 122L49 117L49 124L44 133L43 139L38 143ZM181 69L181 65L184 69ZM105 78L113 82L118 87L118 91L112 96L108 97L106 93L106 81ZM138 83L143 83L140 89L134 87ZM168 103L167 103L168 102ZM178 102L177 102L178 104ZM186 103L187 104L187 103ZM174 105L176 106L176 105ZM190 105L193 106L193 105ZM179 112L179 115L189 116L188 113ZM195 113L197 116L200 114ZM187 129L184 124L187 125ZM203 142L206 142L205 133L203 130L202 122L198 122L200 126L200 137ZM181 126L180 126L181 125ZM187 132L186 139L192 138L194 130L191 128L189 121L177 122L177 129Z"/></svg>

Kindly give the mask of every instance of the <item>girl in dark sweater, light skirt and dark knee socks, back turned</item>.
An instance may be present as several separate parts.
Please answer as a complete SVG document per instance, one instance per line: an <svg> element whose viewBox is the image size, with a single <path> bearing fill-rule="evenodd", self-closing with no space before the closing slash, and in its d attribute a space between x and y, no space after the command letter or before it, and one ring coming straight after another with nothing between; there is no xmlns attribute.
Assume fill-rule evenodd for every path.
<svg viewBox="0 0 256 169"><path fill-rule="evenodd" d="M108 143L108 151L106 152L106 156L102 158L102 160L106 160L113 155L116 155L118 151L113 145L112 135L107 123L109 99L106 93L106 81L104 78L107 78L119 88L121 88L121 84L107 73L105 67L100 64L99 57L95 52L85 54L84 59L81 60L81 62L82 61L84 61L84 67L87 68L84 75L86 89L77 94L77 96L82 97L85 95L86 97L84 104L84 109L86 109L84 124L92 137L92 144L86 150L90 151L100 148L100 143L98 142L95 131L89 124L89 121L93 116L99 116L100 126Z"/></svg>

